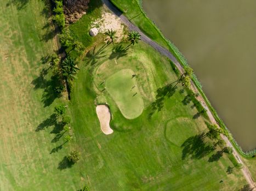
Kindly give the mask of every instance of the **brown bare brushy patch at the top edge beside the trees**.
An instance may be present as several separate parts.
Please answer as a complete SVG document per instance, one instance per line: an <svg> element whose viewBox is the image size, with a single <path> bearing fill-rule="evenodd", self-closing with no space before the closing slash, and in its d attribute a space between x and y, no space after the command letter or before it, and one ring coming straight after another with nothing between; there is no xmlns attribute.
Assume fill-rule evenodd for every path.
<svg viewBox="0 0 256 191"><path fill-rule="evenodd" d="M90 0L64 0L63 5L66 23L74 23L86 14L89 1Z"/></svg>

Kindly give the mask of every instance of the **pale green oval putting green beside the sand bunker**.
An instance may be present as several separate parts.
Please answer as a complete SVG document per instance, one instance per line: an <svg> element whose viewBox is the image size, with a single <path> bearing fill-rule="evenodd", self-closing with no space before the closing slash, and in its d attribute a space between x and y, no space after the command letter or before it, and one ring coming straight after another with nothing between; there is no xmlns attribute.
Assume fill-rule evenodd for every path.
<svg viewBox="0 0 256 191"><path fill-rule="evenodd" d="M134 71L131 69L122 69L106 80L106 90L115 100L123 116L128 119L140 116L144 109L143 99L133 74Z"/></svg>

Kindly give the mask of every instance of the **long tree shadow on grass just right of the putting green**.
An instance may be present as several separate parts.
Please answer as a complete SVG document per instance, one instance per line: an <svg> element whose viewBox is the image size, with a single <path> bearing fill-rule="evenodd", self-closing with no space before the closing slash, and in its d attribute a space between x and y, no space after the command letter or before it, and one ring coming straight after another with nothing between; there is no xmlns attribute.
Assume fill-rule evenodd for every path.
<svg viewBox="0 0 256 191"><path fill-rule="evenodd" d="M151 104L149 117L151 117L156 111L159 112L162 110L164 99L172 97L176 89L177 86L173 86L172 83L157 89L156 100Z"/></svg>

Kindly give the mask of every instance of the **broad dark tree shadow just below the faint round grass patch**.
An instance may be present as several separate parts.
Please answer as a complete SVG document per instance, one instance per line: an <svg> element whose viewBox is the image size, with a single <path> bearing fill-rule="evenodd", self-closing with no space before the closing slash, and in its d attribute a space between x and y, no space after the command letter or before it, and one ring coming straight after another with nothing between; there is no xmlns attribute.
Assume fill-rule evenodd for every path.
<svg viewBox="0 0 256 191"><path fill-rule="evenodd" d="M182 159L190 156L192 159L201 159L214 151L215 147L204 141L204 133L191 136L181 145L183 148Z"/></svg>

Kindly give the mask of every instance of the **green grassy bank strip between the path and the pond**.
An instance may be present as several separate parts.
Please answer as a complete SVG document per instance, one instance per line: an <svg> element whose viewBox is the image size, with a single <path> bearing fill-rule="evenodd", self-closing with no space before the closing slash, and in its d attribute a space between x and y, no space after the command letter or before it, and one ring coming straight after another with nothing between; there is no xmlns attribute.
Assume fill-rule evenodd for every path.
<svg viewBox="0 0 256 191"><path fill-rule="evenodd" d="M120 0L110 0L110 1L120 11L122 11L122 13L124 13L124 15L126 15L126 17L128 18L128 20L130 22L135 23L135 25L138 26L141 29L141 31L143 31L148 37L150 37L152 40L156 41L163 47L166 47L170 52L172 52L173 55L175 56L175 58L177 59L177 61L183 67L189 65L186 58L179 51L178 47L175 46L170 40L166 39L164 37L164 35L162 34L162 32L160 31L160 29L156 26L156 24L152 20L150 20L149 17L146 16L146 14L143 10L141 0L136 0L136 1L131 2L133 5L133 10L130 11L129 13L127 12L127 10L128 10L127 4L122 3L122 5L120 5L120 3L121 3ZM171 63L171 64L174 65L173 63ZM232 145L236 148L236 151L238 153L240 153L240 155L243 156L244 158L247 158L247 159L254 158L255 154L256 154L256 148L254 148L251 151L243 151L242 150L240 145L238 145L237 141L233 138L229 129L227 129L227 127L225 126L225 123L223 122L223 120L221 120L221 118L218 116L217 111L213 108L213 106L207 99L206 94L204 94L204 92L203 92L202 85L201 85L200 81L197 79L196 75L193 74L191 79L195 83L198 91L200 92L201 96L203 97L204 101L206 102L208 108L211 110L211 112L212 112L215 120L219 124L220 128L225 131L227 138L229 138Z"/></svg>

